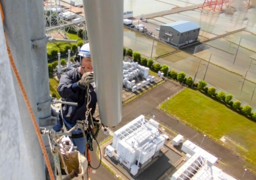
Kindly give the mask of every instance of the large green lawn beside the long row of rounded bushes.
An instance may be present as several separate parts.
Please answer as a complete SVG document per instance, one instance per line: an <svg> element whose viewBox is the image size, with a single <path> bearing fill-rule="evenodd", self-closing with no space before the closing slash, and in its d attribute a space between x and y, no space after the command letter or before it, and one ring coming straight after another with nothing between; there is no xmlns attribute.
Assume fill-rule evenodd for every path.
<svg viewBox="0 0 256 180"><path fill-rule="evenodd" d="M215 138L225 134L235 137L234 140L248 149L246 154L241 155L256 162L255 122L190 88L165 101L161 107Z"/></svg>

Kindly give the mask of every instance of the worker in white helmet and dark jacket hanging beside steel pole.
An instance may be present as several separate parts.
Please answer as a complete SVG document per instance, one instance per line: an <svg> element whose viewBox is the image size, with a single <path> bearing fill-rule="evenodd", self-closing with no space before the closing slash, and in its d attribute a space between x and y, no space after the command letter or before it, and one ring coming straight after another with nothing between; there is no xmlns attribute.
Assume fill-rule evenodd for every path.
<svg viewBox="0 0 256 180"><path fill-rule="evenodd" d="M90 84L94 81L94 76L89 43L82 45L74 59L80 65L78 68L73 68L61 75L58 92L60 96L64 98L64 101L77 102L78 105L62 104L59 115L60 120L57 121L57 125L55 125L53 129L60 131L63 127L63 123L67 130L71 129L76 125L77 120L86 119L85 113L87 111L89 112L87 113L89 125L91 125L90 122L91 119L93 119L94 123L96 123L94 130L96 128L96 131L98 131L100 128L99 119L93 118L97 97L94 87ZM88 107L88 109L86 107ZM70 139L73 145L77 146L77 150L82 154L85 153L85 142L90 141L90 143L92 143L92 139L89 139L88 133L87 138L84 138L81 129L72 131ZM92 144L88 145L90 146ZM92 150L92 146L90 149Z"/></svg>

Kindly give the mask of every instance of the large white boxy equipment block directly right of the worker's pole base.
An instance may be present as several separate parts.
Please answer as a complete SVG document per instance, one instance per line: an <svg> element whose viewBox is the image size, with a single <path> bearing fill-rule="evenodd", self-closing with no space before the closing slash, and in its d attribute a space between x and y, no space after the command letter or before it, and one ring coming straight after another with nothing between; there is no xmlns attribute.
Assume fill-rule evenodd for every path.
<svg viewBox="0 0 256 180"><path fill-rule="evenodd" d="M107 146L105 152L111 157L114 148L115 158L136 175L164 146L165 138L158 127L157 121L140 115L114 132L112 146Z"/></svg>

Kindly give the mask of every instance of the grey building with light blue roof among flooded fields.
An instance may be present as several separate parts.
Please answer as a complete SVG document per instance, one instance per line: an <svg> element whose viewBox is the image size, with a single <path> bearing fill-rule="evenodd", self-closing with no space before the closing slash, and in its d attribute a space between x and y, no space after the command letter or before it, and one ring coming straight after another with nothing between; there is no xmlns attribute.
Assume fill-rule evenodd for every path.
<svg viewBox="0 0 256 180"><path fill-rule="evenodd" d="M159 38L177 47L198 40L200 26L185 20L179 20L160 26Z"/></svg>

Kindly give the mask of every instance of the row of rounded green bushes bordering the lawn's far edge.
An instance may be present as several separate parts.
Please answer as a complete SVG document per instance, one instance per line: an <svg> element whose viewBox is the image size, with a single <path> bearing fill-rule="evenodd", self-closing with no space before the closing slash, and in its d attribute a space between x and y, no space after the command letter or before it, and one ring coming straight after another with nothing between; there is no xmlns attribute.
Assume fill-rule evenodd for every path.
<svg viewBox="0 0 256 180"><path fill-rule="evenodd" d="M206 93L207 95L211 96L212 98L215 98L216 100L226 104L237 112L242 113L244 116L249 116L252 120L256 121L256 111L251 112L252 108L250 105L241 106L241 102L239 100L232 101L232 94L226 94L224 91L216 92L216 88L214 86L206 87L207 82L204 80L200 80L198 83L193 83L193 78L191 76L187 76L185 72L177 72L174 69L169 70L170 67L168 65L163 64L161 66L160 63L155 63L152 58L147 59L146 57L142 57L140 52L133 52L131 48L126 49L125 47L123 47L123 55L130 55L134 58L134 61L144 66L148 66L151 70L155 72L161 71L165 75L167 75L167 77L178 80L179 82L185 83L188 86L194 86L197 89Z"/></svg>

